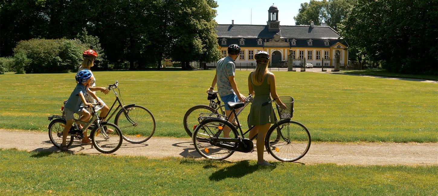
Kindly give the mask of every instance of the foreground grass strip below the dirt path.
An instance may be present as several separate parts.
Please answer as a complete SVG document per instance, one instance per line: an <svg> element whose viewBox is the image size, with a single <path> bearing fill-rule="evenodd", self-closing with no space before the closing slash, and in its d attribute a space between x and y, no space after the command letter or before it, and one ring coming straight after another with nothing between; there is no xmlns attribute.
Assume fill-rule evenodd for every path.
<svg viewBox="0 0 438 196"><path fill-rule="evenodd" d="M4 195L437 195L437 166L338 166L0 149Z"/></svg>

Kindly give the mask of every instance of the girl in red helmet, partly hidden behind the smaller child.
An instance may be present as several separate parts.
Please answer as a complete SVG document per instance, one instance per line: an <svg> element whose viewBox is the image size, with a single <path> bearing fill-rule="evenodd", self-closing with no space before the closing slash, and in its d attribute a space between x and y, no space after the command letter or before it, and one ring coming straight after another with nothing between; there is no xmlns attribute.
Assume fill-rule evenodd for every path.
<svg viewBox="0 0 438 196"><path fill-rule="evenodd" d="M97 52L94 51L94 50L92 50L92 49L85 50L84 53L82 53L82 57L84 58L84 60L82 61L81 66L79 67L79 70L78 70L78 71L81 71L81 70L88 70L88 71L90 71L90 73L92 74L92 81L91 81L91 83L90 83L90 87L89 87L89 89L90 89L91 91L93 91L93 93L95 93L95 91L101 91L101 92L104 93L105 95L108 94L109 90L106 89L105 87L96 87L96 84L95 84L95 82L96 82L95 77L94 77L93 73L92 73L91 70L90 70L91 67L94 66L94 60L97 58ZM108 106L105 104L105 102L102 101L102 99L100 99L100 98L98 98L98 99L99 99L99 100L96 101L91 95L88 95L88 94L85 95L85 100L86 100L88 103L93 103L93 104L95 104L95 103L97 103L98 101L101 103L101 105L97 105L97 106L95 107L95 110L101 110L101 111L100 111L100 114L99 114L99 118L103 119L103 117L105 117L106 114L108 114L108 112L109 112L109 108L108 108ZM88 110L88 112L92 112L92 111L91 111L91 110L92 110L91 107L88 108L87 110ZM103 120L105 120L105 119L103 119Z"/></svg>

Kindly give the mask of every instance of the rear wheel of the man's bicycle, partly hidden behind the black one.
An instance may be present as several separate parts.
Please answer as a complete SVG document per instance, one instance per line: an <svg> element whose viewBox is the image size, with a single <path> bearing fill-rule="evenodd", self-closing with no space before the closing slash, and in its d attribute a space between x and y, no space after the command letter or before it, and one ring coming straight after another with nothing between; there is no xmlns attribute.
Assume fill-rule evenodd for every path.
<svg viewBox="0 0 438 196"><path fill-rule="evenodd" d="M218 105L219 107L219 105ZM208 105L195 105L187 110L184 114L183 124L184 130L186 130L187 135L192 137L193 127L198 125L198 117L201 113L217 113L215 109L212 109Z"/></svg>

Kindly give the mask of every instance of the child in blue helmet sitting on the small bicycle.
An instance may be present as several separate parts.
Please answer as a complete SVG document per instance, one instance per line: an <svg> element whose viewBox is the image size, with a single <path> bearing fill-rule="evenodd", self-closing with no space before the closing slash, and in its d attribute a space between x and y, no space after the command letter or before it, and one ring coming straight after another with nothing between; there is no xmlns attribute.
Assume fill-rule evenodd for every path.
<svg viewBox="0 0 438 196"><path fill-rule="evenodd" d="M70 130L71 126L73 125L73 114L77 113L79 115L82 115L79 120L81 121L88 121L91 117L90 112L88 112L86 109L84 109L83 105L88 105L89 107L92 107L91 103L88 103L85 101L85 95L87 93L89 95L92 95L96 100L98 100L97 96L88 89L90 86L90 82L92 79L92 74L88 70L81 70L76 74L76 81L78 84L76 84L76 87L74 88L73 92L71 93L70 97L68 98L67 102L64 105L64 113L65 113L65 119L67 120L67 123L64 127L64 132L62 134L62 144L60 146L61 151L67 151L67 136L68 131ZM82 125L79 125L79 128L82 128ZM92 144L91 140L88 138L87 130L85 130L84 138L82 139L82 144Z"/></svg>

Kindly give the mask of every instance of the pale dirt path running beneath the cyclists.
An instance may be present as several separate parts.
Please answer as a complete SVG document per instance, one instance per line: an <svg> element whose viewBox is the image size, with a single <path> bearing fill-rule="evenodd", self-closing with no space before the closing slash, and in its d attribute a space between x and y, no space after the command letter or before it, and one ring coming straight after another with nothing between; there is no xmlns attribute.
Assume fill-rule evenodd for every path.
<svg viewBox="0 0 438 196"><path fill-rule="evenodd" d="M0 129L0 148L26 151L59 151L45 132ZM82 154L100 154L92 145L74 141L71 151ZM152 137L144 144L123 142L112 154L146 156L149 158L201 158L190 138ZM255 160L257 152L234 153L227 161ZM265 159L276 161L265 152ZM321 143L311 144L309 152L299 160L304 164L334 163L338 165L438 165L438 143Z"/></svg>

